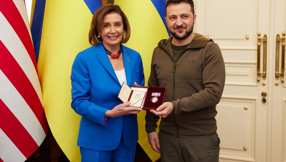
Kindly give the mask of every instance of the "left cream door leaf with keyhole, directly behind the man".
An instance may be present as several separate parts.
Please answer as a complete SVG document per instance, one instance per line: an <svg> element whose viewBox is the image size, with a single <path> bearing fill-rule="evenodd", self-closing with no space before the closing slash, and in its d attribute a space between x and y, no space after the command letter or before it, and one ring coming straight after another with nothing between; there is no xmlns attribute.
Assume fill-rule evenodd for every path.
<svg viewBox="0 0 286 162"><path fill-rule="evenodd" d="M220 161L266 162L271 112L268 91L269 79L273 78L268 65L270 0L194 3L194 31L212 38L225 61L225 89L216 117Z"/></svg>

